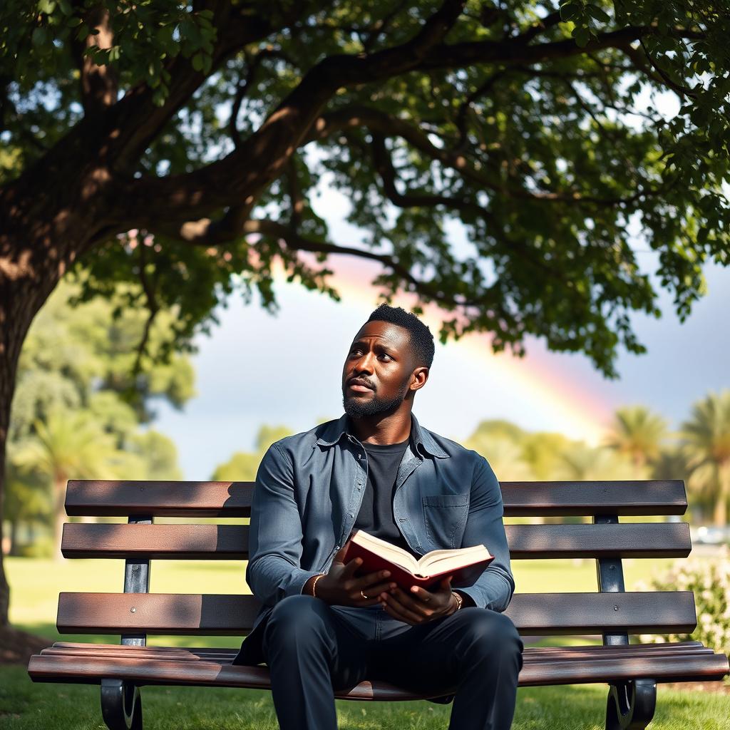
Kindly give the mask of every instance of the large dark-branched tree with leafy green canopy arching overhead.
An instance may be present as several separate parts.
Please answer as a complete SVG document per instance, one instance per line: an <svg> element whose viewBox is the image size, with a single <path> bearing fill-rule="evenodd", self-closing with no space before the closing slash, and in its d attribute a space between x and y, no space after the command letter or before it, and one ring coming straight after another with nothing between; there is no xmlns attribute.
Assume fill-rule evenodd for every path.
<svg viewBox="0 0 730 730"><path fill-rule="evenodd" d="M0 474L23 338L80 261L150 318L177 305L171 347L234 288L273 310L274 259L337 299L347 255L453 312L442 341L534 335L615 374L655 282L685 316L727 262L729 32L704 0L5 0ZM312 210L325 173L363 241ZM7 602L0 565L0 625Z"/></svg>

